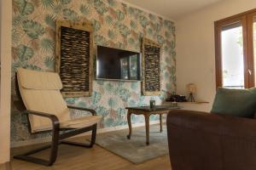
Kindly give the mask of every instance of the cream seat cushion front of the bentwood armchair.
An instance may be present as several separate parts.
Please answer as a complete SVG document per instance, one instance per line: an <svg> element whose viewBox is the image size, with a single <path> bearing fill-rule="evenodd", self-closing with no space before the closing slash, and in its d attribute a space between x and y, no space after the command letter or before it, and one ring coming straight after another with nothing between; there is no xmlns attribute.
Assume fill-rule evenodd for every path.
<svg viewBox="0 0 256 170"><path fill-rule="evenodd" d="M61 122L61 128L82 128L90 127L102 121L102 116L83 116L77 119Z"/></svg>

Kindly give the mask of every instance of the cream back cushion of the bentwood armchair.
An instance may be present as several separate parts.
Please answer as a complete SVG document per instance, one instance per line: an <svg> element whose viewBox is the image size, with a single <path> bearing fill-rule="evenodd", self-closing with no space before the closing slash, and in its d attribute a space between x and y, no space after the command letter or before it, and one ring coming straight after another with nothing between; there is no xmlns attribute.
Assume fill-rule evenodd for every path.
<svg viewBox="0 0 256 170"><path fill-rule="evenodd" d="M67 104L62 98L62 83L55 72L30 71L19 68L17 80L20 95L27 110L53 114L60 122L70 120ZM52 129L49 119L29 116L32 133Z"/></svg>

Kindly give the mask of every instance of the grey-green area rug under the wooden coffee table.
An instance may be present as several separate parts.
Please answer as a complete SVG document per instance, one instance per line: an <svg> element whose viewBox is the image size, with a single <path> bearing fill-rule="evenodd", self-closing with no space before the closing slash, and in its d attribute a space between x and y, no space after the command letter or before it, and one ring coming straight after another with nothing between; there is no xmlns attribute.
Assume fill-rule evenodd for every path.
<svg viewBox="0 0 256 170"><path fill-rule="evenodd" d="M96 144L132 163L139 164L168 154L166 126L160 133L160 126L150 126L149 141L146 144L145 127L132 129L131 139L126 139L128 130L119 130L97 135Z"/></svg>

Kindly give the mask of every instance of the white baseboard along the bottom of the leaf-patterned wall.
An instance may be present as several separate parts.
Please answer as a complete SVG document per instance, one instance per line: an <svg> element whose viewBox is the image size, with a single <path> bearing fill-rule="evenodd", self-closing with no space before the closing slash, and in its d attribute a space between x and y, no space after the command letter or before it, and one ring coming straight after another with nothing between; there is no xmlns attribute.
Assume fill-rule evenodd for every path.
<svg viewBox="0 0 256 170"><path fill-rule="evenodd" d="M165 119L163 120L163 122L165 122ZM159 124L159 121L152 121L150 122L151 125L153 124ZM132 127L143 127L145 126L144 122L139 122L136 124L132 124ZM108 132L113 132L113 131L117 131L117 130L123 130L123 129L127 129L128 126L118 126L118 127L106 127L106 128L100 128L97 130L97 133L108 133ZM79 136L86 136L86 135L90 135L90 133L83 133L80 135L77 135L73 138L79 137ZM32 144L42 144L42 143L47 143L51 140L51 137L47 137L47 138L40 138L40 139L30 139L30 140L25 140L25 141L18 141L18 142L11 142L11 148L17 148L20 146L26 146L26 145L32 145Z"/></svg>

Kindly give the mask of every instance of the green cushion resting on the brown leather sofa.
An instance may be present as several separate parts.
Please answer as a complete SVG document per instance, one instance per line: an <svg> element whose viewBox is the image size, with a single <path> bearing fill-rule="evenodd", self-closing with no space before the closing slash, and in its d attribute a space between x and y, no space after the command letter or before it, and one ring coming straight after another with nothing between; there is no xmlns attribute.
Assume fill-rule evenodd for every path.
<svg viewBox="0 0 256 170"><path fill-rule="evenodd" d="M256 88L218 88L212 113L253 118L256 111Z"/></svg>

